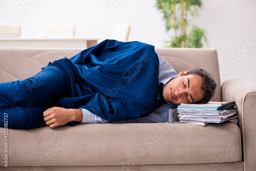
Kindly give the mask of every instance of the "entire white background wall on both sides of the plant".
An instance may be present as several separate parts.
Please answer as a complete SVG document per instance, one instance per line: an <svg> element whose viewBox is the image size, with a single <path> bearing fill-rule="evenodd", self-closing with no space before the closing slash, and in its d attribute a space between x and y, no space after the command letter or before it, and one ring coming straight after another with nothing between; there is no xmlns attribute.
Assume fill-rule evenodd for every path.
<svg viewBox="0 0 256 171"><path fill-rule="evenodd" d="M256 1L205 0L200 16L191 20L207 31L216 48L222 82L247 78L256 82ZM131 26L129 40L164 47L169 37L155 0L0 0L0 23L22 25L22 36L36 36L42 24L76 25L77 36L110 38L114 24Z"/></svg>

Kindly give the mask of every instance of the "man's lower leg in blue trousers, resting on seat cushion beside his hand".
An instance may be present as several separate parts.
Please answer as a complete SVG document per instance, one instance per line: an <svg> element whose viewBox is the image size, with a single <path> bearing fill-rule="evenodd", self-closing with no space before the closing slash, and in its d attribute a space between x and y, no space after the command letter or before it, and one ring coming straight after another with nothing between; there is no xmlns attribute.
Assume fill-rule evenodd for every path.
<svg viewBox="0 0 256 171"><path fill-rule="evenodd" d="M34 129L46 126L42 113L52 106L11 106L0 110L0 127Z"/></svg>

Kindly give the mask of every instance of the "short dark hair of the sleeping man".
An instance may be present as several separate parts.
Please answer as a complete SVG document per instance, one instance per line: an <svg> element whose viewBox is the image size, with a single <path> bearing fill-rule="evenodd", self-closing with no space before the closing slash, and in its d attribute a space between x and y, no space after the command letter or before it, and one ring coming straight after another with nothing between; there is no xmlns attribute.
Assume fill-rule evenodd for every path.
<svg viewBox="0 0 256 171"><path fill-rule="evenodd" d="M210 99L214 96L214 93L217 87L214 77L212 77L205 70L198 69L198 68L192 71L188 71L184 75L189 75L189 74L199 75L203 78L203 83L201 88L204 93L204 98L196 103L207 103L208 101L210 101Z"/></svg>

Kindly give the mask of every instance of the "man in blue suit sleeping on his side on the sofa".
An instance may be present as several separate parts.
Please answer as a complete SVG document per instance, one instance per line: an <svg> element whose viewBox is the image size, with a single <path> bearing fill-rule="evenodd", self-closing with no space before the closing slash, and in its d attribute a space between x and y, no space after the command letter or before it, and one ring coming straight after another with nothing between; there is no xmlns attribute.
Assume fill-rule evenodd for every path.
<svg viewBox="0 0 256 171"><path fill-rule="evenodd" d="M215 90L206 71L177 74L154 46L104 40L28 79L0 83L0 126L166 122L168 108L206 103Z"/></svg>

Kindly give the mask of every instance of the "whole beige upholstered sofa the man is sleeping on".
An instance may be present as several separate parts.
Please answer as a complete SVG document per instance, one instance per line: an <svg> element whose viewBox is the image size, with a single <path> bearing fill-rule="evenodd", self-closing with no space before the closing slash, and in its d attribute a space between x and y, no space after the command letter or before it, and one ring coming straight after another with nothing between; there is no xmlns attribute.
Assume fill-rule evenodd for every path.
<svg viewBox="0 0 256 171"><path fill-rule="evenodd" d="M49 61L81 50L0 48L0 82L25 79ZM156 52L177 72L202 68L214 76L218 88L212 101L235 100L238 124L106 123L8 132L0 128L0 170L256 170L256 83L232 79L221 87L215 49Z"/></svg>

